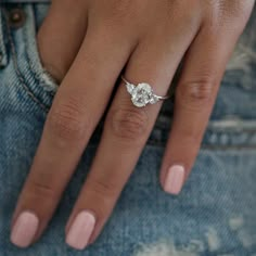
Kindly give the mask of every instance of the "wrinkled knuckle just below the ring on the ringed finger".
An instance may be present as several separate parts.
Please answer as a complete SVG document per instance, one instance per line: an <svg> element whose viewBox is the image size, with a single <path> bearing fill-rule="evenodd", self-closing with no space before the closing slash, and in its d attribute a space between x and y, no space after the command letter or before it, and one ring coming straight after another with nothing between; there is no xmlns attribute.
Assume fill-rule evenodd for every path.
<svg viewBox="0 0 256 256"><path fill-rule="evenodd" d="M119 108L113 111L108 123L114 135L125 140L142 140L148 131L149 117L143 110Z"/></svg>

